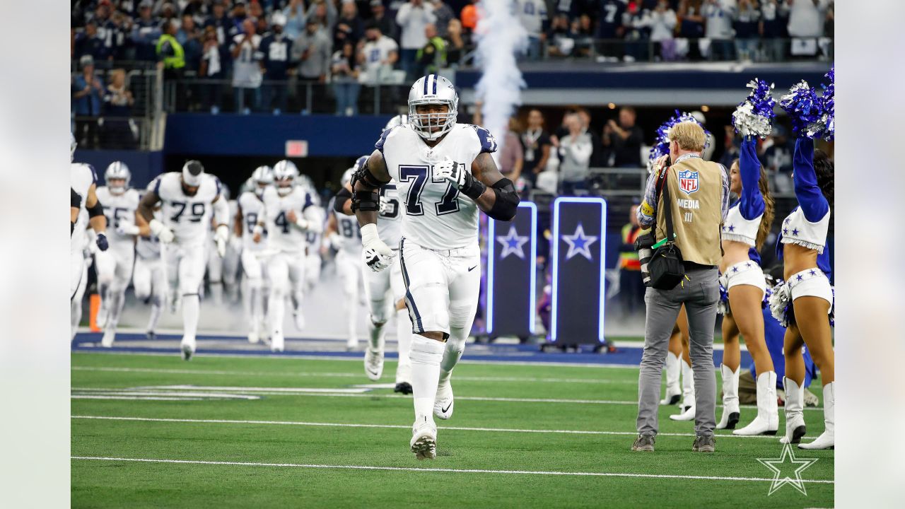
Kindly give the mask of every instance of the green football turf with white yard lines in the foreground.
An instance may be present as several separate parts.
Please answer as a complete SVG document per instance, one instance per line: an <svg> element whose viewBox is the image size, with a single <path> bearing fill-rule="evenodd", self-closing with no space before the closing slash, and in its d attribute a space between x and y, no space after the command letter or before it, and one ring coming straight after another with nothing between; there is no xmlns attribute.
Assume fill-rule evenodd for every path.
<svg viewBox="0 0 905 509"><path fill-rule="evenodd" d="M394 381L386 362L382 384ZM637 368L460 364L437 458L409 451L411 396L360 361L72 354L73 507L830 507L834 452L802 471L806 495L757 458L777 437L691 452L693 427L661 407L653 453L631 451ZM719 384L719 373L718 373ZM719 385L718 385L719 388ZM819 383L812 389L822 396ZM718 417L721 408L718 408ZM742 421L756 409L742 408ZM808 436L823 412L806 409ZM780 409L780 429L784 429ZM782 474L795 480L788 459ZM433 469L433 470L428 470Z"/></svg>

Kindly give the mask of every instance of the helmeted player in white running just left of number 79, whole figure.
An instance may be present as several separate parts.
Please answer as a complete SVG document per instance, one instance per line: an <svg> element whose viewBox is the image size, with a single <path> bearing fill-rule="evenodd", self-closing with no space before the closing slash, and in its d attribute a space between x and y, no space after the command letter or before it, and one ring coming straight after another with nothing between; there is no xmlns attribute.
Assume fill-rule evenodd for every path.
<svg viewBox="0 0 905 509"><path fill-rule="evenodd" d="M116 338L116 327L119 315L126 304L126 288L132 279L132 267L135 264L135 211L138 208L138 191L129 187L132 172L122 161L113 161L104 171L106 186L98 187L97 195L104 204L104 215L107 224L114 232L110 235L110 249L107 256L97 256L98 264L109 263L110 268L100 270L98 274L98 290L100 293L100 310L97 324L104 330L100 346L110 348ZM104 259L106 258L106 259ZM100 273L110 274L109 279Z"/></svg>

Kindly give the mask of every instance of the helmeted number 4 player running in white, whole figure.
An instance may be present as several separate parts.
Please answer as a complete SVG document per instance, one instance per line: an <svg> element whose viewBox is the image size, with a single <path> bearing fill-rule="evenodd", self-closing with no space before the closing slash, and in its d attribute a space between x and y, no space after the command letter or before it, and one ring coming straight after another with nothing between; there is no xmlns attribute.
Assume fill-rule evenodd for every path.
<svg viewBox="0 0 905 509"><path fill-rule="evenodd" d="M261 242L267 230L267 277L271 281L267 321L271 325L271 351L283 351L283 315L287 294L298 330L305 327L301 299L305 284L305 235L323 227L323 216L310 192L295 185L299 169L289 160L273 165L274 187L264 190L264 214L254 229L254 242Z"/></svg>

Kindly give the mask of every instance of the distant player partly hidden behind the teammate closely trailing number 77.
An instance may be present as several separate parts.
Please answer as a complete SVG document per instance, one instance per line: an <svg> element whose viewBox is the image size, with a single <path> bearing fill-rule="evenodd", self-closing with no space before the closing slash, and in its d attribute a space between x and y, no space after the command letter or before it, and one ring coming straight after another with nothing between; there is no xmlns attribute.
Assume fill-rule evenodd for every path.
<svg viewBox="0 0 905 509"><path fill-rule="evenodd" d="M356 167L348 168L343 173L340 180L341 188L351 186L352 175L355 173ZM337 251L336 265L337 274L342 281L342 292L346 300L346 314L348 316L346 324L348 326L348 337L346 341L346 350L354 351L358 348L358 285L362 282L363 272L361 266L361 234L358 231L357 221L354 217L346 216L340 209L337 212L335 205L337 196L332 200L329 219L327 220L327 229L324 236L330 245ZM380 367L383 370L383 366ZM379 379L379 374L377 379Z"/></svg>

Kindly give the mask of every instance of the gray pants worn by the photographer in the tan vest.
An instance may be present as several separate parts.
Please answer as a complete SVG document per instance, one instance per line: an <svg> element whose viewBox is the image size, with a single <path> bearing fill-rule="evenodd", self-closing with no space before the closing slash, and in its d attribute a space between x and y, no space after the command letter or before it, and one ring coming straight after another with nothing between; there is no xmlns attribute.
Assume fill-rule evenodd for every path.
<svg viewBox="0 0 905 509"><path fill-rule="evenodd" d="M660 380L672 327L681 305L688 312L691 369L694 370L696 435L713 435L717 425L717 376L713 369L713 329L717 322L719 282L717 269L686 268L688 279L672 290L648 288L644 293L644 354L638 377L638 434L657 434Z"/></svg>

